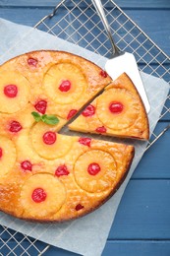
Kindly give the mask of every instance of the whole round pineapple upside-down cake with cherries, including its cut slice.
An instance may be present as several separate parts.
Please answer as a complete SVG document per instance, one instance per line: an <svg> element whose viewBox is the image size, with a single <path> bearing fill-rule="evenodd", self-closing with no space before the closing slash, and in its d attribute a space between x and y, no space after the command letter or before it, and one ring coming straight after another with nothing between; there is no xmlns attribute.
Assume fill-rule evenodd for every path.
<svg viewBox="0 0 170 256"><path fill-rule="evenodd" d="M0 66L1 211L62 222L84 216L115 193L134 147L60 134L106 87L70 128L147 139L146 113L132 82L125 74L111 82L95 64L61 51L29 52Z"/></svg>

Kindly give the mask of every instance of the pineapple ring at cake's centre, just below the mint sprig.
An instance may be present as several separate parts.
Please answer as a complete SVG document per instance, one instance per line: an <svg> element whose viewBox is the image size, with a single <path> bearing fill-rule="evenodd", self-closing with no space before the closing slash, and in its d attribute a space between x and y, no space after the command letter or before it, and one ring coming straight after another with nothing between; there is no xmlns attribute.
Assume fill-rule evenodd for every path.
<svg viewBox="0 0 170 256"><path fill-rule="evenodd" d="M57 125L49 126L42 122L35 124L31 130L30 138L33 149L40 157L46 160L54 160L65 156L75 140L73 137L56 133L56 130ZM51 145L45 144L43 141L43 136L46 132L52 132L56 135L56 141Z"/></svg>

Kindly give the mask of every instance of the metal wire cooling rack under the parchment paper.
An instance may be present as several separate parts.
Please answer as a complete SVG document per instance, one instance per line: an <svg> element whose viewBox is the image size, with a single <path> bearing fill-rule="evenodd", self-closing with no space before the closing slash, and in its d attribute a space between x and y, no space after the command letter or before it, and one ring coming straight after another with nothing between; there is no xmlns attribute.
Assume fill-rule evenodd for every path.
<svg viewBox="0 0 170 256"><path fill-rule="evenodd" d="M105 0L103 5L117 46L133 52L143 72L170 82L170 58L113 1ZM110 56L109 39L90 0L60 1L35 28L102 56ZM170 95L166 98L159 122L168 122L169 115ZM167 125L159 133L154 131L147 149L169 128ZM0 227L0 240L0 255L42 255L50 247L5 226Z"/></svg>

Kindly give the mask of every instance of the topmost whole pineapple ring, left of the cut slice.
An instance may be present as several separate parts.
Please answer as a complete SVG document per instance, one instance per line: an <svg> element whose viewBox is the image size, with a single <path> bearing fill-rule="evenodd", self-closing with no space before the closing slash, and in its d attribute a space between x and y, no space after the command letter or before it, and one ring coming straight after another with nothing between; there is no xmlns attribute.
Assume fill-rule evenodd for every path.
<svg viewBox="0 0 170 256"><path fill-rule="evenodd" d="M60 91L63 81L70 83L67 92ZM45 74L44 90L55 103L68 104L77 101L85 92L86 80L80 68L71 63L53 65Z"/></svg>

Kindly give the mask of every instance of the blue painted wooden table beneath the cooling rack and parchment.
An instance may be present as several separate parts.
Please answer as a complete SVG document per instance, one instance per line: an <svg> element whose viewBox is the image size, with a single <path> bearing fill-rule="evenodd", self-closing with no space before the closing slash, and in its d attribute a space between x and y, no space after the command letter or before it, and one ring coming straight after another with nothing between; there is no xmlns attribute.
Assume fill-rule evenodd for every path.
<svg viewBox="0 0 170 256"><path fill-rule="evenodd" d="M115 2L170 55L169 0ZM32 27L55 5L56 0L0 0L0 17ZM168 122L169 118L162 120L157 129L161 131ZM170 255L169 148L170 131L143 156L126 189L103 256ZM7 252L0 251L0 255L7 255ZM44 255L75 254L51 246Z"/></svg>

